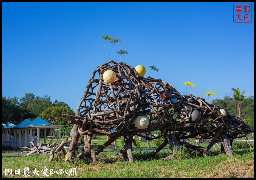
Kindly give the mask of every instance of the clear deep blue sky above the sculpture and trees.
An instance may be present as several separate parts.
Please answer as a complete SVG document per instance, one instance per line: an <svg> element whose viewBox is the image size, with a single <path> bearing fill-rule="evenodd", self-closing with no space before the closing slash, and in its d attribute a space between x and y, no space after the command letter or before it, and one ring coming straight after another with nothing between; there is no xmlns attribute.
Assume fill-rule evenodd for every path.
<svg viewBox="0 0 256 180"><path fill-rule="evenodd" d="M128 51L127 65L183 95L208 101L204 93L216 92L211 102L239 88L254 96L254 3L252 23L234 23L233 4L2 2L2 95L48 94L76 111L93 70L109 61L108 35L121 38L110 59Z"/></svg>

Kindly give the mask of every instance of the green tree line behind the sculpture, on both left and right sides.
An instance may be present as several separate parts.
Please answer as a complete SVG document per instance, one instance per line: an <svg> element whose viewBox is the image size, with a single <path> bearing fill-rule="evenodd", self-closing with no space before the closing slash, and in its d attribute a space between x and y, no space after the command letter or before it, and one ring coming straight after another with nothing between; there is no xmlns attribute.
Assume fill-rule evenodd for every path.
<svg viewBox="0 0 256 180"><path fill-rule="evenodd" d="M238 116L254 128L254 96L243 96L245 91L240 93L239 88L231 90L233 97L224 96L212 100L211 103L225 108L229 114ZM25 93L22 98L16 96L6 98L2 95L2 124L10 122L17 125L25 119L32 121L40 117L46 121L50 118L51 122L55 121L54 125L72 127L66 118L61 117L62 114L75 115L67 103L58 100L52 102L48 95L36 97L33 93Z"/></svg>

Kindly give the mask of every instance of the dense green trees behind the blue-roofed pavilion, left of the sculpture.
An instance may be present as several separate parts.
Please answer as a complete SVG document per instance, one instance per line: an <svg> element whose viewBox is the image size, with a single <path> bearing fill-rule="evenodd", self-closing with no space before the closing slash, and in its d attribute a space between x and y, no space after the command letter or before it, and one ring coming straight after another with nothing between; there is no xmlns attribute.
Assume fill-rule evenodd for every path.
<svg viewBox="0 0 256 180"><path fill-rule="evenodd" d="M48 118L51 122L55 121L53 125L64 125L64 128L73 126L68 124L66 118L61 117L62 114L75 115L67 103L58 100L52 102L48 95L35 96L33 93L25 93L21 98L2 95L2 124L10 122L17 125L25 119L32 121L40 117L46 121Z"/></svg>

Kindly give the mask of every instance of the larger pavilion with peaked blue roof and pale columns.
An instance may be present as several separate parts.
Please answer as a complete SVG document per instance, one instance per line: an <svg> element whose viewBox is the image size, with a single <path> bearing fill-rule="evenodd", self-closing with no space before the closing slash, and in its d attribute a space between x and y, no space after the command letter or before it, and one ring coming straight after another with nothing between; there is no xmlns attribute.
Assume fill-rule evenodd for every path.
<svg viewBox="0 0 256 180"><path fill-rule="evenodd" d="M9 129L9 134L12 135L12 131L14 134L14 140L13 142L9 143L9 146L14 146L16 147L24 147L28 146L28 142L32 141L32 139L35 137L35 134L38 135L37 143L39 143L39 138L40 138L40 129L44 129L44 142L46 142L46 130L50 130L50 136L52 136L52 129L58 129L58 134L59 134L59 142L60 141L60 128L63 127L63 125L52 125L51 123L37 117L35 120L30 121L29 119L25 119L24 121L20 122L17 125L14 126L8 126ZM11 137L11 136L10 136ZM29 137L29 140L27 141L27 137ZM9 138L9 141L11 141L11 138ZM51 141L52 143L52 141ZM29 144L31 147L32 145Z"/></svg>

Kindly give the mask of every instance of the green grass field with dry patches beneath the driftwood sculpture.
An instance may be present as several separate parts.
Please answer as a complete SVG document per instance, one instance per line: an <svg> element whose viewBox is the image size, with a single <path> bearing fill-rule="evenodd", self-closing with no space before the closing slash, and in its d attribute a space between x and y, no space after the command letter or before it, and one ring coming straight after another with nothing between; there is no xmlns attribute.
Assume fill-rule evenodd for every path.
<svg viewBox="0 0 256 180"><path fill-rule="evenodd" d="M148 160L145 156L150 151L141 151L133 152L134 163L127 162L115 153L103 152L97 157L105 158L105 161L93 164L79 159L68 164L64 157L56 155L54 160L49 162L49 154L2 157L2 178L26 177L25 170L30 178L254 178L253 150L235 150L232 157L209 150L206 156L197 157L189 155L182 148L175 153L176 157L169 161L163 161L161 158L170 155L170 150L160 151ZM12 174L9 174L10 172ZM62 172L64 173L60 174Z"/></svg>

